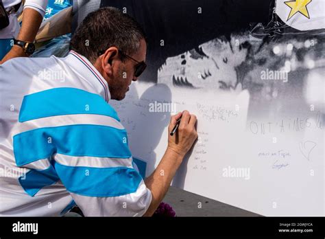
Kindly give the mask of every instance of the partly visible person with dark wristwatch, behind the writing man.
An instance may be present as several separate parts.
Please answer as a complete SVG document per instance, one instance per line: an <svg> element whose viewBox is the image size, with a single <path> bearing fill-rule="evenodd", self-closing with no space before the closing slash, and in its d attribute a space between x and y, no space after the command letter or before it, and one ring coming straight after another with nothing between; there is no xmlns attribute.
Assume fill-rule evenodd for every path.
<svg viewBox="0 0 325 239"><path fill-rule="evenodd" d="M21 0L0 0L8 25L0 30L0 64L15 57L30 56L35 50L35 36L46 12L46 0L26 0L22 7ZM23 9L22 25L17 16ZM5 11L5 12L4 12Z"/></svg>

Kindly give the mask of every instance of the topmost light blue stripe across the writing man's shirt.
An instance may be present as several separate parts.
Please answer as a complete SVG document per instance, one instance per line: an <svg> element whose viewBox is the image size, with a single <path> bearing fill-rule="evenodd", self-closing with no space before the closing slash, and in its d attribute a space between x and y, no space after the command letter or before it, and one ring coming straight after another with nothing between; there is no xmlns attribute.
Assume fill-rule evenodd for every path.
<svg viewBox="0 0 325 239"><path fill-rule="evenodd" d="M115 109L100 95L82 89L62 87L25 95L19 122L76 114L106 115L120 121Z"/></svg>

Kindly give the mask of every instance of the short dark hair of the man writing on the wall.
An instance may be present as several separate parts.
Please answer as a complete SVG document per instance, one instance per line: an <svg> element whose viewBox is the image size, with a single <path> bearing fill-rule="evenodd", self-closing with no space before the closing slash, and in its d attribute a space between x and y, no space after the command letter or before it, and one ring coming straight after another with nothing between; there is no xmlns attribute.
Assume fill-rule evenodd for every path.
<svg viewBox="0 0 325 239"><path fill-rule="evenodd" d="M77 27L71 38L70 49L93 63L99 52L112 46L129 56L136 54L142 38L146 40L145 33L131 16L117 8L99 8L89 13Z"/></svg>

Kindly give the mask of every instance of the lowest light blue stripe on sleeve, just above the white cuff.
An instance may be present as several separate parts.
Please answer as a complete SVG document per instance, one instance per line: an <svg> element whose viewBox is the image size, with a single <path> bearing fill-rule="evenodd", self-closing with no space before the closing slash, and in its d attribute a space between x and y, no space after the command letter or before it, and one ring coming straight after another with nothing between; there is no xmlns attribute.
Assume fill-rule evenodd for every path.
<svg viewBox="0 0 325 239"><path fill-rule="evenodd" d="M69 192L82 196L112 197L136 192L141 176L133 168L72 167L55 163L56 172Z"/></svg>

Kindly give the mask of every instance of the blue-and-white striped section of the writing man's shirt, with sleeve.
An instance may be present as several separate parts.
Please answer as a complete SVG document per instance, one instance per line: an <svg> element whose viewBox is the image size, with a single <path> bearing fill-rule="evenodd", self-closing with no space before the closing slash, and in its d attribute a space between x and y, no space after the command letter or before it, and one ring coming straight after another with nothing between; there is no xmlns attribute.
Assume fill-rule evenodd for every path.
<svg viewBox="0 0 325 239"><path fill-rule="evenodd" d="M152 201L125 128L97 94L56 88L25 95L13 146L17 166L38 166L21 182L29 196L61 181L85 216L143 216Z"/></svg>

